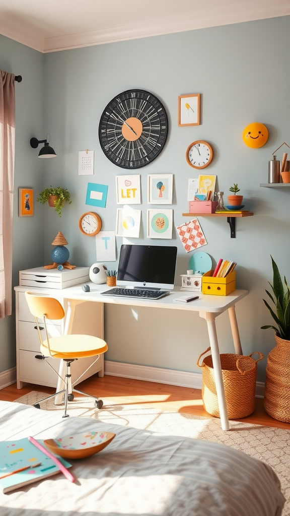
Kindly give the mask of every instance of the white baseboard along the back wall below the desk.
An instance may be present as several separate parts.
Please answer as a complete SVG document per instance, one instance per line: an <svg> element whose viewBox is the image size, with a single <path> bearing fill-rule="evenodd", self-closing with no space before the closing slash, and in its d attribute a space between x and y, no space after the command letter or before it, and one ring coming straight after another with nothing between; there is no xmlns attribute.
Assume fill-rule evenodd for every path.
<svg viewBox="0 0 290 516"><path fill-rule="evenodd" d="M201 373L187 373L175 369L162 369L146 365L125 364L122 362L111 362L105 360L105 375L132 378L134 380L145 380L147 382L166 383L167 385L178 385L191 389L202 388ZM264 398L265 384L256 382L256 398Z"/></svg>

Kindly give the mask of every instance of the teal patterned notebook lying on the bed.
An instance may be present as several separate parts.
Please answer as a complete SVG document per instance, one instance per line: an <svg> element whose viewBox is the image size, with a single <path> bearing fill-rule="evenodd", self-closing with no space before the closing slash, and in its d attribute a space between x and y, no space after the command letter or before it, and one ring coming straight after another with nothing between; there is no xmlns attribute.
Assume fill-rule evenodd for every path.
<svg viewBox="0 0 290 516"><path fill-rule="evenodd" d="M39 439L38 442L43 445L42 440ZM62 457L57 458L65 467L71 466ZM4 475L28 466L29 469L3 478ZM27 486L29 483L37 482L59 472L59 467L53 460L30 443L27 438L15 441L0 441L0 488L2 488L3 493Z"/></svg>

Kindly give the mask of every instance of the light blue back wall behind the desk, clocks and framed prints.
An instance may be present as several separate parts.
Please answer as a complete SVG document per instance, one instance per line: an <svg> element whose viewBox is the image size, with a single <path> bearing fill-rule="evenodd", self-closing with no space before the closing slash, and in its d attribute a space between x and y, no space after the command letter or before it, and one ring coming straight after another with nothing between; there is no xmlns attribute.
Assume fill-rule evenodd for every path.
<svg viewBox="0 0 290 516"><path fill-rule="evenodd" d="M290 189L261 188L260 183L267 182L272 152L284 141L290 144L289 47L290 17L283 17L44 55L43 127L45 133L51 133L58 156L45 160L43 181L44 186L67 187L73 201L65 207L61 218L47 206L38 208L45 221L44 263L51 261L51 242L58 231L69 242L71 263L88 266L96 260L94 238L83 236L78 229L80 215L90 209L85 204L88 181L108 185L106 208L96 211L102 218L103 230L115 230L115 176L125 171L112 165L103 154L98 138L99 120L106 104L121 91L149 90L165 105L170 130L163 152L150 165L136 170L141 175L143 202L136 207L142 209L142 229L140 238L132 241L177 245L179 283L190 256L175 231L172 240L150 240L144 236L149 207L147 175L174 174L173 205L168 207L174 210L174 225L179 225L186 220L182 213L188 211L188 178L196 176L186 162L185 151L196 139L210 142L214 159L206 171L217 175L217 187L225 196L229 187L238 183L245 208L253 211L254 216L237 220L235 239L230 238L226 219L200 217L207 239L207 245L200 250L210 254L214 264L219 257L237 262L237 287L250 291L236 307L244 353L256 350L267 356L274 338L272 331L260 329L270 324L262 299L272 277L270 254L289 279ZM21 45L19 48L23 49ZM37 54L27 49L26 52L29 57L30 53ZM36 75L41 80L42 62L38 55L36 58ZM26 59L29 69L28 56ZM20 68L17 73L21 73ZM17 88L23 88L23 84ZM201 93L201 125L178 127L178 96L187 93ZM32 110L33 94L28 99L30 105L27 99L23 103L27 102ZM37 120L41 126L41 118ZM256 150L246 147L241 139L244 127L253 121L264 123L269 130L268 142ZM26 132L29 133L27 128ZM33 135L27 134L25 141L30 136ZM78 151L86 148L95 151L94 176L77 175ZM27 152L22 160L27 173L31 165L36 166L35 161ZM39 185L35 182L33 186L37 190ZM121 243L117 237L118 250ZM14 260L19 263L18 257ZM115 263L107 265L112 268ZM226 314L217 318L217 328L221 352L231 352ZM105 337L109 345L107 360L192 372L199 370L196 360L208 346L204 320L163 310L106 307ZM259 364L260 381L264 380L265 365L266 360Z"/></svg>

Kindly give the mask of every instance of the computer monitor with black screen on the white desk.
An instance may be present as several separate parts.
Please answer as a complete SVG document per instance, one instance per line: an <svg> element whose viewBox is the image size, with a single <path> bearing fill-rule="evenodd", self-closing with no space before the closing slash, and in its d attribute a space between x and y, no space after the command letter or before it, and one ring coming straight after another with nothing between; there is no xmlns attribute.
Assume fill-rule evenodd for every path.
<svg viewBox="0 0 290 516"><path fill-rule="evenodd" d="M117 285L174 288L177 247L123 244Z"/></svg>

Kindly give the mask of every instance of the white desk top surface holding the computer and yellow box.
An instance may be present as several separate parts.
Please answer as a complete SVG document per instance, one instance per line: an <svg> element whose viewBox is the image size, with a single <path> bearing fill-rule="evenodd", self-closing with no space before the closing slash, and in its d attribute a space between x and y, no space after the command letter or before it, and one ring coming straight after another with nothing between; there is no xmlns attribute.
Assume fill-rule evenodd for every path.
<svg viewBox="0 0 290 516"><path fill-rule="evenodd" d="M175 286L170 294L161 299L137 299L131 297L110 297L102 296L101 292L109 290L106 284L96 285L95 283L88 282L90 286L90 292L84 292L82 284L75 285L73 287L53 289L53 288L35 288L28 286L17 286L15 290L18 292L39 292L41 294L47 294L51 297L58 297L63 299L74 299L79 301L94 301L101 303L120 304L120 305L134 305L136 307L149 307L149 308L167 308L175 310L188 310L190 312L212 312L222 313L228 308L233 307L237 301L243 299L248 295L248 291L236 290L228 296L208 296L201 292L185 292L180 290L180 286ZM189 303L176 302L174 299L181 296L199 296L199 299L190 301Z"/></svg>

